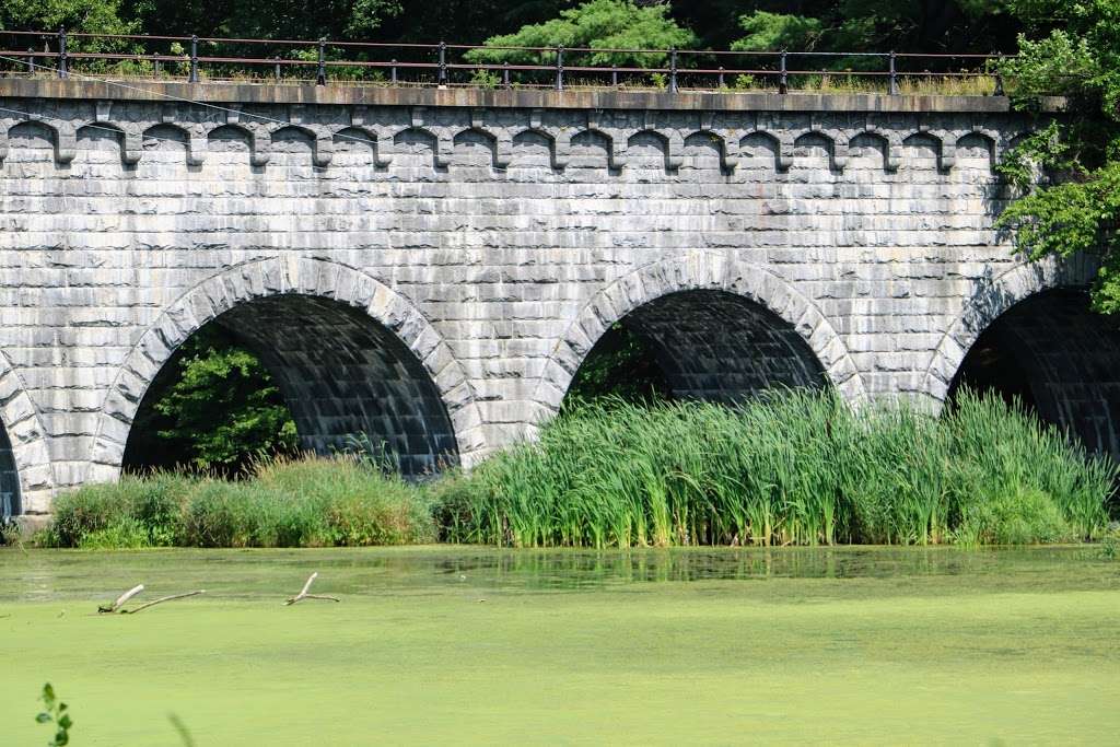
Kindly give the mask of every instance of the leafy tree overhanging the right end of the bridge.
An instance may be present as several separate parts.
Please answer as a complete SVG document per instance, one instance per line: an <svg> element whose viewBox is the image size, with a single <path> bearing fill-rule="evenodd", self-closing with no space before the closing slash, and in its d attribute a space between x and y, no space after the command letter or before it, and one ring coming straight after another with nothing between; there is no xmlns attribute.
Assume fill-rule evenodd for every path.
<svg viewBox="0 0 1120 747"><path fill-rule="evenodd" d="M1028 27L1004 74L1016 105L1070 97L1068 116L1015 148L1000 170L1020 197L1000 216L1032 260L1100 258L1096 310L1120 311L1120 0L1010 0Z"/></svg>

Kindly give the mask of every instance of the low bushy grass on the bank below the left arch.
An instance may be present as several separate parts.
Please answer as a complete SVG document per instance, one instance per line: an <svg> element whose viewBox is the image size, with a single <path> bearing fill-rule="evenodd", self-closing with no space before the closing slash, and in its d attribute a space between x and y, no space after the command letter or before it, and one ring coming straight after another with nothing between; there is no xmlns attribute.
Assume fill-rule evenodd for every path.
<svg viewBox="0 0 1120 747"><path fill-rule="evenodd" d="M433 542L421 492L349 457L279 459L243 480L181 473L87 485L55 501L45 544L296 548Z"/></svg>

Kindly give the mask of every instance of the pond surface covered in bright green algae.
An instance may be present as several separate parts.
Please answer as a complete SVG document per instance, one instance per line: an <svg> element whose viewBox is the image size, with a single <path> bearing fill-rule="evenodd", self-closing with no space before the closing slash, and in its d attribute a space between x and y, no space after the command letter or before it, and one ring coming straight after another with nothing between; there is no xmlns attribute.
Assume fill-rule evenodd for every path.
<svg viewBox="0 0 1120 747"><path fill-rule="evenodd" d="M312 572L340 603L283 606ZM99 604L206 589L139 615ZM130 605L131 606L131 605ZM1092 547L0 549L0 745L1102 744Z"/></svg>

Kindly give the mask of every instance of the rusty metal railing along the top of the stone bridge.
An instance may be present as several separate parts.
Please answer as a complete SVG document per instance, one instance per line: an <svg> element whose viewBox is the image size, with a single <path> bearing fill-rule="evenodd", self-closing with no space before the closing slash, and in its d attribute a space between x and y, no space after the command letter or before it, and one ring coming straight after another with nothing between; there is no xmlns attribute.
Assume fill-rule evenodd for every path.
<svg viewBox="0 0 1120 747"><path fill-rule="evenodd" d="M515 63L472 60L488 49ZM613 64L607 59L628 60ZM1002 55L731 52L693 49L591 49L586 47L483 47L446 44L383 44L198 36L139 36L0 31L0 75L153 77L277 83L380 84L396 86L571 86L721 91L799 87L881 91L906 86L1004 92ZM648 64L642 64L646 62ZM955 82L958 85L952 86Z"/></svg>

